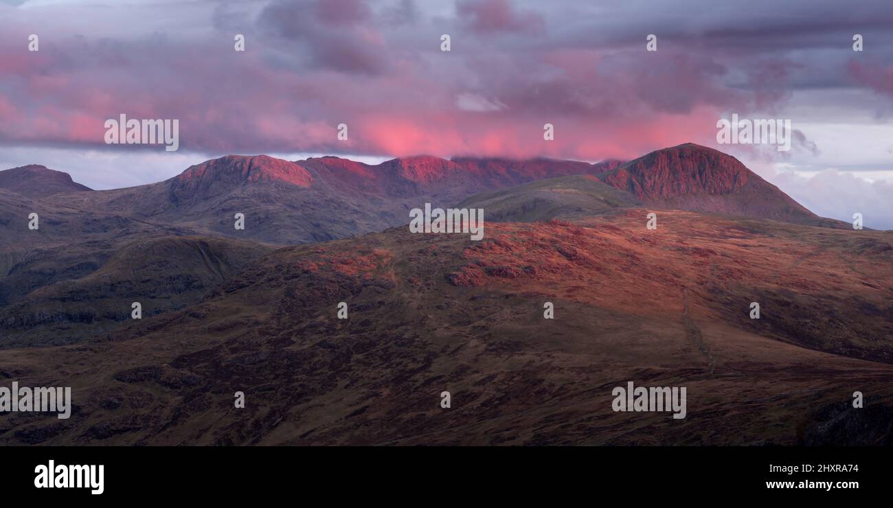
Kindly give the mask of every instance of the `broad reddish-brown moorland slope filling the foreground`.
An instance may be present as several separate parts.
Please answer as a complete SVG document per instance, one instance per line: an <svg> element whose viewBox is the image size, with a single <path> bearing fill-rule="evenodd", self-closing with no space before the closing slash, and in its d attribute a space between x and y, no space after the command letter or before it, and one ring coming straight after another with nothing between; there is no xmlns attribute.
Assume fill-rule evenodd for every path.
<svg viewBox="0 0 893 508"><path fill-rule="evenodd" d="M889 233L646 213L277 250L181 311L0 351L76 405L0 443L890 444ZM688 416L613 412L627 381L687 387Z"/></svg>

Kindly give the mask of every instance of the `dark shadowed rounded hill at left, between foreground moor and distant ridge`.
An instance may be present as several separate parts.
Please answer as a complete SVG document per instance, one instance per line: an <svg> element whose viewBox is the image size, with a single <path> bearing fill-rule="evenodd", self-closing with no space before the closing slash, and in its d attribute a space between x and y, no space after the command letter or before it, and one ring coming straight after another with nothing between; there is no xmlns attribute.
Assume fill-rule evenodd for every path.
<svg viewBox="0 0 893 508"><path fill-rule="evenodd" d="M41 267L65 267L65 258L20 262L10 277L0 280L4 292L21 293L0 306L0 349L97 337L130 321L134 302L141 305L144 319L196 304L270 250L231 238L131 235L100 245L69 246L64 253L77 264L27 291L13 284Z"/></svg>

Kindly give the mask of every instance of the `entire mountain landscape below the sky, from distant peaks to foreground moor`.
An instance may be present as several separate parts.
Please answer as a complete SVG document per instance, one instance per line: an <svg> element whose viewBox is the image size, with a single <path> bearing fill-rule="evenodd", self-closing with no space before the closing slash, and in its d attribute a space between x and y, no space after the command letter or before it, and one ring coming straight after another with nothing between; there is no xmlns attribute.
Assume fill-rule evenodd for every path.
<svg viewBox="0 0 893 508"><path fill-rule="evenodd" d="M893 236L711 148L65 177L0 171L0 378L76 411L0 443L890 444ZM483 209L484 240L413 235L426 203ZM627 380L689 387L689 418L613 412Z"/></svg>

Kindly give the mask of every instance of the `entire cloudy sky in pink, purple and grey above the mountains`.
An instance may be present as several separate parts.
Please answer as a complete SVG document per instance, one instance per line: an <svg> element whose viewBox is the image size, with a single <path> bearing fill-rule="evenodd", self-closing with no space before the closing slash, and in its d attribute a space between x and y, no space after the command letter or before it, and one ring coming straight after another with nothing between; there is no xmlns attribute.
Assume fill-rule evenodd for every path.
<svg viewBox="0 0 893 508"><path fill-rule="evenodd" d="M106 145L121 113L178 119L179 151ZM732 113L789 119L791 150L718 145ZM0 168L94 188L221 154L597 161L686 142L893 229L893 3L0 0Z"/></svg>

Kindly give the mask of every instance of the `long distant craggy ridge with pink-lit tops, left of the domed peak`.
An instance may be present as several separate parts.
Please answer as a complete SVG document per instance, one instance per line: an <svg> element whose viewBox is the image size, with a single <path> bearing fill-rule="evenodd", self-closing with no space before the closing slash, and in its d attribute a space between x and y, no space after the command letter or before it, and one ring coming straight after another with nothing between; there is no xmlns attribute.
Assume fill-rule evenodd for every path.
<svg viewBox="0 0 893 508"><path fill-rule="evenodd" d="M199 235L280 245L354 237L405 223L424 203L452 206L498 188L543 178L599 175L617 161L462 158L430 155L365 164L340 157L288 162L226 155L158 183L52 196L53 204L175 225ZM235 213L246 228L233 227Z"/></svg>

